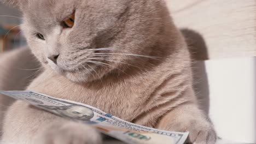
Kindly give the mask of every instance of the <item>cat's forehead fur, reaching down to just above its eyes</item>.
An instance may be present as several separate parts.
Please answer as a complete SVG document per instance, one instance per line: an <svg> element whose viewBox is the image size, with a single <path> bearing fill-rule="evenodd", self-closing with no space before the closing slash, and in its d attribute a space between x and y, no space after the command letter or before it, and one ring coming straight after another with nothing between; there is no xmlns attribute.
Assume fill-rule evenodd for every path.
<svg viewBox="0 0 256 144"><path fill-rule="evenodd" d="M94 17L122 13L129 0L28 0L23 10L26 21L34 27L50 28L60 23L75 10ZM79 15L77 15L79 16ZM82 16L80 16L82 17ZM103 16L104 17L104 16ZM83 17L82 17L83 18Z"/></svg>

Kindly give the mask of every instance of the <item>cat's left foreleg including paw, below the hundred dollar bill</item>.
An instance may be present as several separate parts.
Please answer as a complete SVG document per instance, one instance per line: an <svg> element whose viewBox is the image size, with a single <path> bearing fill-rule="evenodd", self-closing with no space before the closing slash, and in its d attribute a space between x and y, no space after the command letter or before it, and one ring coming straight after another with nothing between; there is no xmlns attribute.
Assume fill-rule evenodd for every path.
<svg viewBox="0 0 256 144"><path fill-rule="evenodd" d="M22 101L10 106L3 131L6 143L102 143L100 133L90 125L67 121Z"/></svg>

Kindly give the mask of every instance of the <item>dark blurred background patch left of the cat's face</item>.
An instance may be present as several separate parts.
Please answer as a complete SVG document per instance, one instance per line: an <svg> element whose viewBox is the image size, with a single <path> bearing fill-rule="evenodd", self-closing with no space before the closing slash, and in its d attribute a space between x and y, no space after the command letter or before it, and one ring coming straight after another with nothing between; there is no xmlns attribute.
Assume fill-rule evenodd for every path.
<svg viewBox="0 0 256 144"><path fill-rule="evenodd" d="M19 25L20 12L0 3L0 53L26 44Z"/></svg>

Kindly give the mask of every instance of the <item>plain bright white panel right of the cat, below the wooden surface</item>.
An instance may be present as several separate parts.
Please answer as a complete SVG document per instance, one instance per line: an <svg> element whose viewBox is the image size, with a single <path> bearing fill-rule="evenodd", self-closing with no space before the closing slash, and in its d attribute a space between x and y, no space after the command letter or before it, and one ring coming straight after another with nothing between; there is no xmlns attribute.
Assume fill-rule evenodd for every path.
<svg viewBox="0 0 256 144"><path fill-rule="evenodd" d="M197 75L201 83L197 94L210 104L208 111L218 136L256 143L256 57L200 61L194 67L201 69L202 65L205 73L201 79Z"/></svg>

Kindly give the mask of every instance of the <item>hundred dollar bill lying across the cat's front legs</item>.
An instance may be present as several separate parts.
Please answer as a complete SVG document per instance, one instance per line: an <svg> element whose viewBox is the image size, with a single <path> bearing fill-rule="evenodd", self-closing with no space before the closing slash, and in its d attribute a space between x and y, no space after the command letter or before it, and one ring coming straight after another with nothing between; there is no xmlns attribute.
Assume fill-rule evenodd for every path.
<svg viewBox="0 0 256 144"><path fill-rule="evenodd" d="M32 91L0 91L0 93L24 100L60 117L91 124L101 133L129 144L183 144L189 134L143 127L126 122L90 105Z"/></svg>

